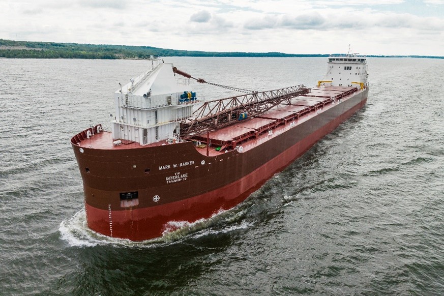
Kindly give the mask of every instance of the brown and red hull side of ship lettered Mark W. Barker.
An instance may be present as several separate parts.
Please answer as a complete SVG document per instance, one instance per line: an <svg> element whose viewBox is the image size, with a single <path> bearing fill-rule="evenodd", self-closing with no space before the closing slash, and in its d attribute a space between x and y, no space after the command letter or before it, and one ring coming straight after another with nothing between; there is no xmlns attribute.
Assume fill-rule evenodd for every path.
<svg viewBox="0 0 444 296"><path fill-rule="evenodd" d="M73 144L87 225L142 241L174 229L180 224L174 221L192 223L233 208L361 109L367 94L358 92L244 153L209 157L191 142L121 151L85 147L81 153ZM137 192L137 200L122 200L123 192Z"/></svg>

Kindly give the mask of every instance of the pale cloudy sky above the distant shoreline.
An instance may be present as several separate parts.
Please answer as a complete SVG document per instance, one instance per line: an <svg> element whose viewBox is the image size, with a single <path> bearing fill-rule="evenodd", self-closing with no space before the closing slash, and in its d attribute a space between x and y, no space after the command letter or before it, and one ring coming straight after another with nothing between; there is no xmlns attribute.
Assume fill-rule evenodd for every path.
<svg viewBox="0 0 444 296"><path fill-rule="evenodd" d="M444 56L444 0L0 0L0 38Z"/></svg>

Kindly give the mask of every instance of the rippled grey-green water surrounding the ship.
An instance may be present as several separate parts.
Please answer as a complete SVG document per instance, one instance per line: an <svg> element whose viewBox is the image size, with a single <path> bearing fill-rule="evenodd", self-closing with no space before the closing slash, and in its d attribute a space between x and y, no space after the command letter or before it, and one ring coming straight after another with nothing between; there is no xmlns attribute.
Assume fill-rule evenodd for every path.
<svg viewBox="0 0 444 296"><path fill-rule="evenodd" d="M312 86L326 60L165 58L258 91ZM146 62L0 59L0 294L444 293L444 61L368 65L367 106L244 203L132 243L85 227L70 138L109 128Z"/></svg>

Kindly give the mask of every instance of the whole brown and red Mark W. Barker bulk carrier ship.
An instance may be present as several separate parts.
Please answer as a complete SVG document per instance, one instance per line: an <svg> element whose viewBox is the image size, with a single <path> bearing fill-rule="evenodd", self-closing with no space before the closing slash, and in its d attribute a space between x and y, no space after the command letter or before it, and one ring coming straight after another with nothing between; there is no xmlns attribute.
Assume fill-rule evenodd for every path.
<svg viewBox="0 0 444 296"><path fill-rule="evenodd" d="M366 58L351 54L330 56L313 88L208 102L175 75L194 77L151 63L115 92L112 131L99 124L71 139L87 226L132 241L233 208L361 109L369 90Z"/></svg>

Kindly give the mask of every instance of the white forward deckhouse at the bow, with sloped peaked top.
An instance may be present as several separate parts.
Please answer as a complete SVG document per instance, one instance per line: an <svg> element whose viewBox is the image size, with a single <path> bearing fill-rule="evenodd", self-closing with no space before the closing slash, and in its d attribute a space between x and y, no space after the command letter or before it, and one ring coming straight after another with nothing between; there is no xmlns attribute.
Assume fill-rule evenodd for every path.
<svg viewBox="0 0 444 296"><path fill-rule="evenodd" d="M177 85L172 67L152 60L151 70L115 92L114 140L146 145L179 137L180 121L191 116L196 100L186 86ZM184 92L187 99L181 99Z"/></svg>

